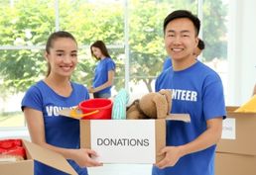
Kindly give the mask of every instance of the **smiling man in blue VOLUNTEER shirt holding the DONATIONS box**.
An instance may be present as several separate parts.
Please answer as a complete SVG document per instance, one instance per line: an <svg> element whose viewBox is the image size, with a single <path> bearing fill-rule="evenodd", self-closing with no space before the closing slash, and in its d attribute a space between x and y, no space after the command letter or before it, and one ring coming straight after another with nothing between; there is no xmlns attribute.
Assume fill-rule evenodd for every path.
<svg viewBox="0 0 256 175"><path fill-rule="evenodd" d="M194 59L200 21L178 10L164 21L165 46L173 66L156 80L156 91L171 89L171 113L187 113L191 123L167 122L167 146L153 175L213 175L215 144L225 118L223 87L212 69Z"/></svg>

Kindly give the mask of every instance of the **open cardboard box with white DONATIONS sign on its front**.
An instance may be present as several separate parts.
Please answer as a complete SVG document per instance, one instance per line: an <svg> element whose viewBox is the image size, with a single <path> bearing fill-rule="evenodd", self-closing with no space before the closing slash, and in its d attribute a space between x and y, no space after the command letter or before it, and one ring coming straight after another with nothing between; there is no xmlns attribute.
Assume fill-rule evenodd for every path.
<svg viewBox="0 0 256 175"><path fill-rule="evenodd" d="M190 121L189 115L166 120ZM80 146L98 153L103 163L156 163L166 145L166 120L81 120Z"/></svg>

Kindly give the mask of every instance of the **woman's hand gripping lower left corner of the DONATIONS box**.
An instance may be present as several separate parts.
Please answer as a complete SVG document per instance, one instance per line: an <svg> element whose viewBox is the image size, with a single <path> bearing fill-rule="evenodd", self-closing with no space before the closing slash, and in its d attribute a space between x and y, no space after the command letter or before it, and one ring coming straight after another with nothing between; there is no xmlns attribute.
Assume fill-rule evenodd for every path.
<svg viewBox="0 0 256 175"><path fill-rule="evenodd" d="M92 157L96 157L97 153L91 149L71 149L72 160L74 160L80 167L102 166L102 163L95 161Z"/></svg>

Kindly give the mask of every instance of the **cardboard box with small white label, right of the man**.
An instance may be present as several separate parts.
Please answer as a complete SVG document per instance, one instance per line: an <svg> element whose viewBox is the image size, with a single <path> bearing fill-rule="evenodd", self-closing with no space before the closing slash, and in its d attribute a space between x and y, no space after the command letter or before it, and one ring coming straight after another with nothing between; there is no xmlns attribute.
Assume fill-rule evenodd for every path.
<svg viewBox="0 0 256 175"><path fill-rule="evenodd" d="M217 143L215 175L256 174L256 113L236 113L227 107Z"/></svg>

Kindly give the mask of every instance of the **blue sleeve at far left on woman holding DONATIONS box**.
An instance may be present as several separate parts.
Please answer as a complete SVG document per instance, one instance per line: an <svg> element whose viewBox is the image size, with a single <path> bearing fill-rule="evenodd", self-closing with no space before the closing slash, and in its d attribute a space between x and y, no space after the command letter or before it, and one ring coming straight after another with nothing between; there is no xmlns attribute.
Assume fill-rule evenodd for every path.
<svg viewBox="0 0 256 175"><path fill-rule="evenodd" d="M32 86L22 99L22 111L25 107L29 107L38 111L43 111L42 95L39 89Z"/></svg>

